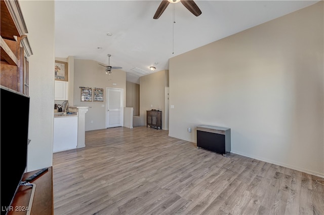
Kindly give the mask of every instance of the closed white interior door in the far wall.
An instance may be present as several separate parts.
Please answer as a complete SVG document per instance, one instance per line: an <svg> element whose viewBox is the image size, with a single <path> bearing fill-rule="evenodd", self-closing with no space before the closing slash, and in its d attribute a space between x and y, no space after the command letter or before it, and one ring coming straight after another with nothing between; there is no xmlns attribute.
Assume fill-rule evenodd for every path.
<svg viewBox="0 0 324 215"><path fill-rule="evenodd" d="M123 126L124 89L107 88L107 127Z"/></svg>

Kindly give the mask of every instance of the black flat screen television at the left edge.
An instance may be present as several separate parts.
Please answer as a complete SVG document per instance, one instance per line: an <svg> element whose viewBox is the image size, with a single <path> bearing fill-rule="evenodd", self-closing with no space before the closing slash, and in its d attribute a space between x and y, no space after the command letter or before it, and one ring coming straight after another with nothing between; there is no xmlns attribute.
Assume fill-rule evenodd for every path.
<svg viewBox="0 0 324 215"><path fill-rule="evenodd" d="M1 86L1 214L7 214L27 166L28 96Z"/></svg>

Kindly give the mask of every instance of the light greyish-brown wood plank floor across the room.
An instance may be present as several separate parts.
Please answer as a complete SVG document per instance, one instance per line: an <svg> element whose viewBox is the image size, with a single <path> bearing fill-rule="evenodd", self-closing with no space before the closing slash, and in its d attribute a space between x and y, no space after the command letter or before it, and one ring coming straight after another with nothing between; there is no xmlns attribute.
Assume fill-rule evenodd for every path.
<svg viewBox="0 0 324 215"><path fill-rule="evenodd" d="M54 213L324 214L320 178L197 149L153 128L86 132L53 156Z"/></svg>

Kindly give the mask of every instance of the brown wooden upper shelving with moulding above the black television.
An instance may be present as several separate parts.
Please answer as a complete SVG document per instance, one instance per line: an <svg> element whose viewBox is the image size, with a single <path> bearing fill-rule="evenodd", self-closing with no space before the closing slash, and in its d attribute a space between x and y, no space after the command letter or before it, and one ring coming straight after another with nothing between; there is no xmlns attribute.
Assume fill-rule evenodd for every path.
<svg viewBox="0 0 324 215"><path fill-rule="evenodd" d="M28 57L32 51L18 1L1 0L0 83L28 95Z"/></svg>

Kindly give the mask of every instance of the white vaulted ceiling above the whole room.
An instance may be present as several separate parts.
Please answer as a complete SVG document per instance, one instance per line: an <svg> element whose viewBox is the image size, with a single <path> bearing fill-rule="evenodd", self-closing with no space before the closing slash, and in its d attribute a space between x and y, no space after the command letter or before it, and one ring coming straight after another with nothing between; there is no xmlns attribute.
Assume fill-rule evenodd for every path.
<svg viewBox="0 0 324 215"><path fill-rule="evenodd" d="M132 71L134 67L149 73L150 66L156 67L155 72L169 69L174 56L318 1L195 0L202 14L195 17L177 3L175 24L173 4L153 19L160 2L55 1L55 57L74 56L108 65L107 54L111 54L110 66L123 67L127 80L138 83L142 74Z"/></svg>

